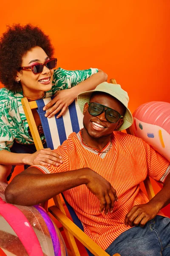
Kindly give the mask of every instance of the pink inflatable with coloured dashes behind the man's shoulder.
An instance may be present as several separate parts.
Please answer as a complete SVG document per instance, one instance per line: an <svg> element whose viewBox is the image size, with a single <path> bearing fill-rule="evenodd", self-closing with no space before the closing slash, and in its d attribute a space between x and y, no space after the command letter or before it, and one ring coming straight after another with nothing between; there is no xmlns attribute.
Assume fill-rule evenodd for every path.
<svg viewBox="0 0 170 256"><path fill-rule="evenodd" d="M141 105L133 113L130 131L170 161L170 103L148 102Z"/></svg>

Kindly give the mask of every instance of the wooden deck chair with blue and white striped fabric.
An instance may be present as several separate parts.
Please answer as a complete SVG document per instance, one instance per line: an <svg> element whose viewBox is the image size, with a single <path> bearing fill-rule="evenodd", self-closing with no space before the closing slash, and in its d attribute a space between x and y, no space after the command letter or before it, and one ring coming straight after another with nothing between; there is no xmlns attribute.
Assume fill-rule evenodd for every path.
<svg viewBox="0 0 170 256"><path fill-rule="evenodd" d="M40 150L43 148L42 142L40 140L40 135L37 131L37 126L34 121L34 116L32 114L33 109L38 108L38 112L41 116L45 114L44 111L42 111L42 108L45 104L47 104L51 98L46 98L43 100L38 100L34 102L28 102L28 99L23 98L21 100L24 112L26 114L26 119L28 121L28 125L35 143L35 146L37 150ZM45 102L44 102L45 101ZM41 112L41 113L40 113ZM69 116L72 116L71 119ZM45 121L42 121L42 126L43 127L48 127L49 122L54 122L54 125L56 125L56 131L55 134L49 133L49 129L44 129L47 130L45 132L45 137L47 138L47 145L51 149L57 148L66 138L68 135L72 132L78 132L80 128L82 128L82 113L79 110L79 107L77 105L77 102L74 101L66 111L65 115L63 117L56 119L55 117L53 118L54 120L47 119L45 118ZM69 124L68 124L68 122ZM57 125L58 123L58 125ZM71 130L69 131L69 127L71 127ZM59 136L56 135L56 132L58 131ZM54 135L54 139L52 138ZM57 140L56 140L57 139ZM108 256L108 253L106 253L104 250L102 250L99 245L97 245L92 239L90 239L84 232L83 232L83 226L81 221L78 219L77 215L74 212L74 209L65 201L66 206L68 207L68 210L70 212L70 215L73 219L71 221L65 214L65 209L63 207L61 198L59 195L53 198L55 206L49 207L48 211L55 217L57 220L63 225L63 229L65 231L66 238L68 239L68 244L71 248L68 250L69 255L73 256L80 256L79 250L77 248L77 244L75 242L74 237L76 237L87 249L87 253L89 256ZM65 198L64 198L65 200ZM44 205L45 208L47 209L47 204ZM120 256L118 253L114 254L114 256Z"/></svg>

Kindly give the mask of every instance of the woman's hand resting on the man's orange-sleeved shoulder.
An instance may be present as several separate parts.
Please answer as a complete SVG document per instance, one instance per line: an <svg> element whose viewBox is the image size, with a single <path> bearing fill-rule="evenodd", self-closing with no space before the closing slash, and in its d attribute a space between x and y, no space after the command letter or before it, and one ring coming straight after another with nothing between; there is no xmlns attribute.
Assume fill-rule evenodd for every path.
<svg viewBox="0 0 170 256"><path fill-rule="evenodd" d="M27 154L23 158L23 163L30 166L34 164L40 164L44 166L59 166L62 163L62 157L51 150L51 148L43 148L35 152L34 154Z"/></svg>

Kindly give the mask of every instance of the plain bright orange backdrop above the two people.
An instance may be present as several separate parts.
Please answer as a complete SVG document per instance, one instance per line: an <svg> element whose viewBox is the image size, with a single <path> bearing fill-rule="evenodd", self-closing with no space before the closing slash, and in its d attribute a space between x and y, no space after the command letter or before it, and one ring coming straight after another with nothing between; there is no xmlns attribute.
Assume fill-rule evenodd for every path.
<svg viewBox="0 0 170 256"><path fill-rule="evenodd" d="M12 23L40 26L58 67L104 70L128 91L132 112L169 102L169 0L2 0L0 9L0 34Z"/></svg>

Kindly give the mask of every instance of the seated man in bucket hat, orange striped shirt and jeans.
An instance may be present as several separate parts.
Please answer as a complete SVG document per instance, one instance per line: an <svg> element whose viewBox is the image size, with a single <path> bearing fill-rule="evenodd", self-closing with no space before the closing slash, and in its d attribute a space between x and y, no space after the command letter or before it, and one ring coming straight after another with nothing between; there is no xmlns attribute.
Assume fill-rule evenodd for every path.
<svg viewBox="0 0 170 256"><path fill-rule="evenodd" d="M59 166L32 166L6 188L12 204L32 205L64 192L85 233L109 255L170 255L170 163L142 139L122 133L133 122L129 98L119 84L81 93L84 128L55 152ZM45 174L43 174L45 173ZM140 190L147 176L164 183L148 202Z"/></svg>

